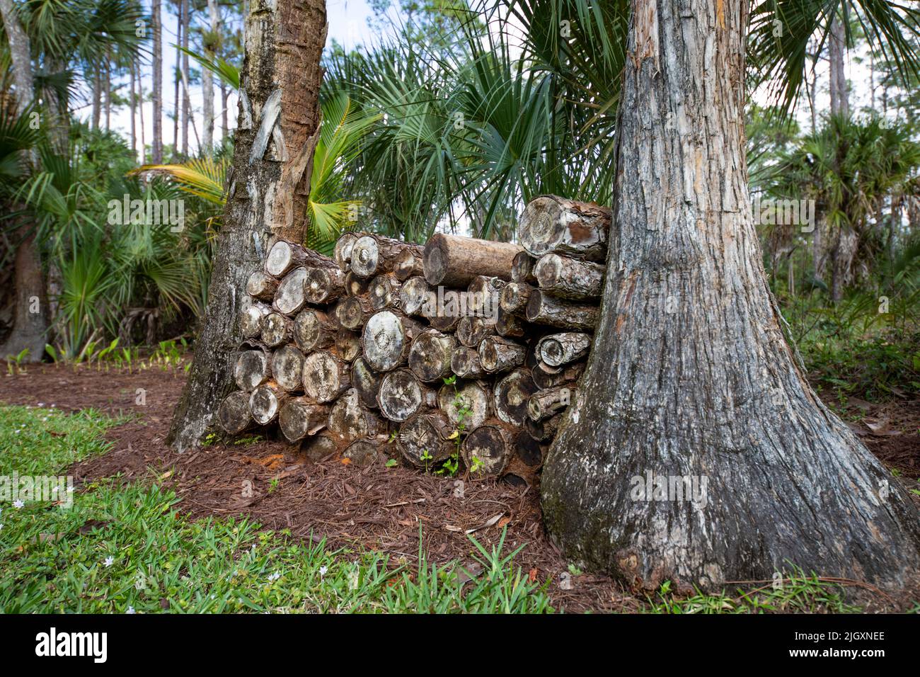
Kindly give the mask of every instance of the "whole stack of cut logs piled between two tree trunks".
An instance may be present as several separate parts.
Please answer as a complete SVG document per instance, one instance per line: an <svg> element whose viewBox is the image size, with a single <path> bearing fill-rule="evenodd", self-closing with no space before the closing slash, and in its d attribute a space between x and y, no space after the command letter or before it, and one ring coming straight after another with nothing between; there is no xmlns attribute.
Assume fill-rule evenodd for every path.
<svg viewBox="0 0 920 677"><path fill-rule="evenodd" d="M531 482L591 349L609 228L605 207L541 196L523 247L346 233L330 259L275 241L247 281L221 426L277 425L357 464L433 469L459 445L472 473Z"/></svg>

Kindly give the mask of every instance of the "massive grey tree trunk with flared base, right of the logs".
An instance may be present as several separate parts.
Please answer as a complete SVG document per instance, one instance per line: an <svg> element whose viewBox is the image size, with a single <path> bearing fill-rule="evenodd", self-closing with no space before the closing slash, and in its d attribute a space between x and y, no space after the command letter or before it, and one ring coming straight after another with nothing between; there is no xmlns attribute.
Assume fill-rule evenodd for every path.
<svg viewBox="0 0 920 677"><path fill-rule="evenodd" d="M811 391L766 285L744 158L747 9L633 2L602 312L546 460L546 527L642 588L719 589L787 560L901 586L917 510Z"/></svg>

